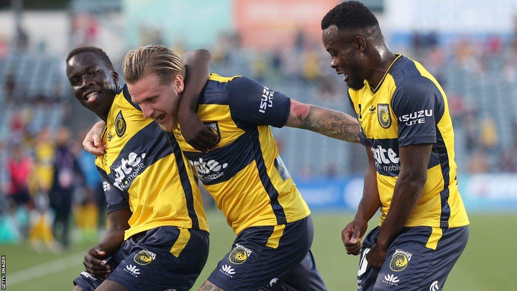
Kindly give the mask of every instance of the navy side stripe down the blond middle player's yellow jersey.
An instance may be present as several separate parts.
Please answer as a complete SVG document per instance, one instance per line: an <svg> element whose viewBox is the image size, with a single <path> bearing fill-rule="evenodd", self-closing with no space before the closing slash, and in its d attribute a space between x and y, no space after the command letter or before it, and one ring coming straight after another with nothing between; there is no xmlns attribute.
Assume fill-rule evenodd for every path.
<svg viewBox="0 0 517 291"><path fill-rule="evenodd" d="M278 201L278 191L267 174L266 164L264 163L264 157L262 156L260 140L258 139L258 129L256 127L253 128L248 134L251 138L253 156L255 158L255 163L257 164L258 176L260 177L262 185L264 186L267 194L269 195L269 199L271 200L271 208L277 217L277 224L286 224L287 219L285 218L284 208Z"/></svg>

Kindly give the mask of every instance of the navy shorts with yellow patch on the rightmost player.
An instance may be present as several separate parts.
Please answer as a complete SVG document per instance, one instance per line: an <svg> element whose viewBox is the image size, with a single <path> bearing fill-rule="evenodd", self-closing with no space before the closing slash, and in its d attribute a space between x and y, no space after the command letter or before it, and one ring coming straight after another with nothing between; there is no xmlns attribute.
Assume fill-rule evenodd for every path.
<svg viewBox="0 0 517 291"><path fill-rule="evenodd" d="M380 227L364 239L357 272L359 291L437 291L465 249L468 225L454 228L404 227L388 248L381 269L368 265L366 254L377 241Z"/></svg>

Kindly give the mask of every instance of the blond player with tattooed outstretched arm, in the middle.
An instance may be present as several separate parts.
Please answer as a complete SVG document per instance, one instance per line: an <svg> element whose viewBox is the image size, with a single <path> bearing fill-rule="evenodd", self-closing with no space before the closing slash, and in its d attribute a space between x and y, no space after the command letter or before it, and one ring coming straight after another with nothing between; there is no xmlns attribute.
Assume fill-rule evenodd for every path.
<svg viewBox="0 0 517 291"><path fill-rule="evenodd" d="M149 69L155 64L164 65ZM130 51L123 71L134 103L145 117L174 133L237 234L232 249L200 290L326 290L310 252L310 210L278 154L269 125L358 141L357 120L298 103L240 76L211 74L199 100L185 96L185 68L163 46ZM216 138L216 149L196 151L185 141L177 126L180 98L196 105L192 122L201 119Z"/></svg>

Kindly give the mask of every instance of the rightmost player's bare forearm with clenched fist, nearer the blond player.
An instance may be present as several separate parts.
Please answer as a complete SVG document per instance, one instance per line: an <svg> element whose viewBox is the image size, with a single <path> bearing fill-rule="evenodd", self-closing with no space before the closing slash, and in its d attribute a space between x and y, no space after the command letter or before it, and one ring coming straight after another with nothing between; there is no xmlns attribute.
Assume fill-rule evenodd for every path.
<svg viewBox="0 0 517 291"><path fill-rule="evenodd" d="M372 147L366 147L366 153L368 155L368 167L366 173L364 173L364 188L361 202L354 220L341 232L341 239L346 253L354 256L361 252L361 238L368 228L368 221L381 207L381 199L379 199L377 189L377 170L375 168Z"/></svg>

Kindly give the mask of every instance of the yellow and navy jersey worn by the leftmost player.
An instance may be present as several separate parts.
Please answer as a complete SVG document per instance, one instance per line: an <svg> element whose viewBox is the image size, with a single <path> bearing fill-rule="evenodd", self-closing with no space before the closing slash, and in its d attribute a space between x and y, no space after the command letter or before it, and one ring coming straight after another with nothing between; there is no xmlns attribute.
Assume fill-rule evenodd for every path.
<svg viewBox="0 0 517 291"><path fill-rule="evenodd" d="M107 150L95 164L108 212L133 212L125 239L165 225L208 231L199 188L178 143L143 117L126 86L113 100L102 140Z"/></svg>

